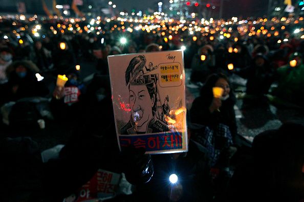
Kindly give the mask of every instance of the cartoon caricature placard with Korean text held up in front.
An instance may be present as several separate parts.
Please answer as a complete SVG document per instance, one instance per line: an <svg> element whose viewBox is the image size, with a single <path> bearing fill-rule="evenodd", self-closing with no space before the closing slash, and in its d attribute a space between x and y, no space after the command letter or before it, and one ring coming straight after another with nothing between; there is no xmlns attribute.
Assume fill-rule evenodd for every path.
<svg viewBox="0 0 304 202"><path fill-rule="evenodd" d="M182 50L108 56L120 149L187 151Z"/></svg>

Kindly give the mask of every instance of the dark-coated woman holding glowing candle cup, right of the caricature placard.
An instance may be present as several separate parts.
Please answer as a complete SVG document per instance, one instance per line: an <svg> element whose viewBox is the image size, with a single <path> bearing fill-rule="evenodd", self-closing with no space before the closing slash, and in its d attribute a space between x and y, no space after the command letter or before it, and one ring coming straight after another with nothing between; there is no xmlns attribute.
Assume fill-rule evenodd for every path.
<svg viewBox="0 0 304 202"><path fill-rule="evenodd" d="M222 96L213 94L214 87L222 88ZM235 146L237 127L233 108L235 102L236 98L226 75L214 73L209 75L201 89L201 95L194 99L190 109L191 122L208 127L213 134L213 149L217 149L219 154L226 149L227 158L231 158L237 150ZM212 166L216 163L219 154L209 157Z"/></svg>

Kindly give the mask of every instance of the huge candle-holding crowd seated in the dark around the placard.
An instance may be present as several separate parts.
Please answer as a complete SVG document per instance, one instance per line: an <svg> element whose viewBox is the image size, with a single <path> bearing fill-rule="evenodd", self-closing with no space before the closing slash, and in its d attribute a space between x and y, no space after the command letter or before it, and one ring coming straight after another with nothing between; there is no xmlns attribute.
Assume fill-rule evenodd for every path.
<svg viewBox="0 0 304 202"><path fill-rule="evenodd" d="M234 111L238 86L231 79L247 81L244 108L272 104L303 112L302 17L167 21L153 28L151 21L109 19L0 18L6 201L68 201L71 194L77 201L77 190L98 169L123 172L134 185L132 194L114 201L304 199L303 122L290 120L245 145ZM201 88L187 109L188 152L150 156L132 146L120 152L107 56L181 48L189 82ZM86 83L78 66L85 62L96 65ZM55 85L58 74L69 79L64 87ZM214 97L213 87L223 95ZM164 111L167 103L165 98ZM44 121L70 134L47 162L30 138L46 127ZM182 176L175 185L164 182L172 168Z"/></svg>

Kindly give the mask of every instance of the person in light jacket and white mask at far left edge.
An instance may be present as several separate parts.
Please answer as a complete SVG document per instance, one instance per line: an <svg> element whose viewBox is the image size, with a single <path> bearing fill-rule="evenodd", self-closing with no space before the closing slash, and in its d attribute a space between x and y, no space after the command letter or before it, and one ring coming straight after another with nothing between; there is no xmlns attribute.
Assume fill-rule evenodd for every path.
<svg viewBox="0 0 304 202"><path fill-rule="evenodd" d="M0 50L0 84L4 84L8 81L5 71L12 63L12 58L12 52L9 48L2 48Z"/></svg>

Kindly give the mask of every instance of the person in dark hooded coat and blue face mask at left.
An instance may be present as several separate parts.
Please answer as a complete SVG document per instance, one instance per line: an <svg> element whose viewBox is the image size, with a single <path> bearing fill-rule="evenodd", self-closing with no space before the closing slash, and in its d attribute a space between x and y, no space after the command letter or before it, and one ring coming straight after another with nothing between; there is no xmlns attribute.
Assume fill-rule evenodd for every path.
<svg viewBox="0 0 304 202"><path fill-rule="evenodd" d="M38 81L35 74L38 67L31 61L15 61L6 69L8 82L2 85L0 105L20 98L48 95L44 81Z"/></svg>

